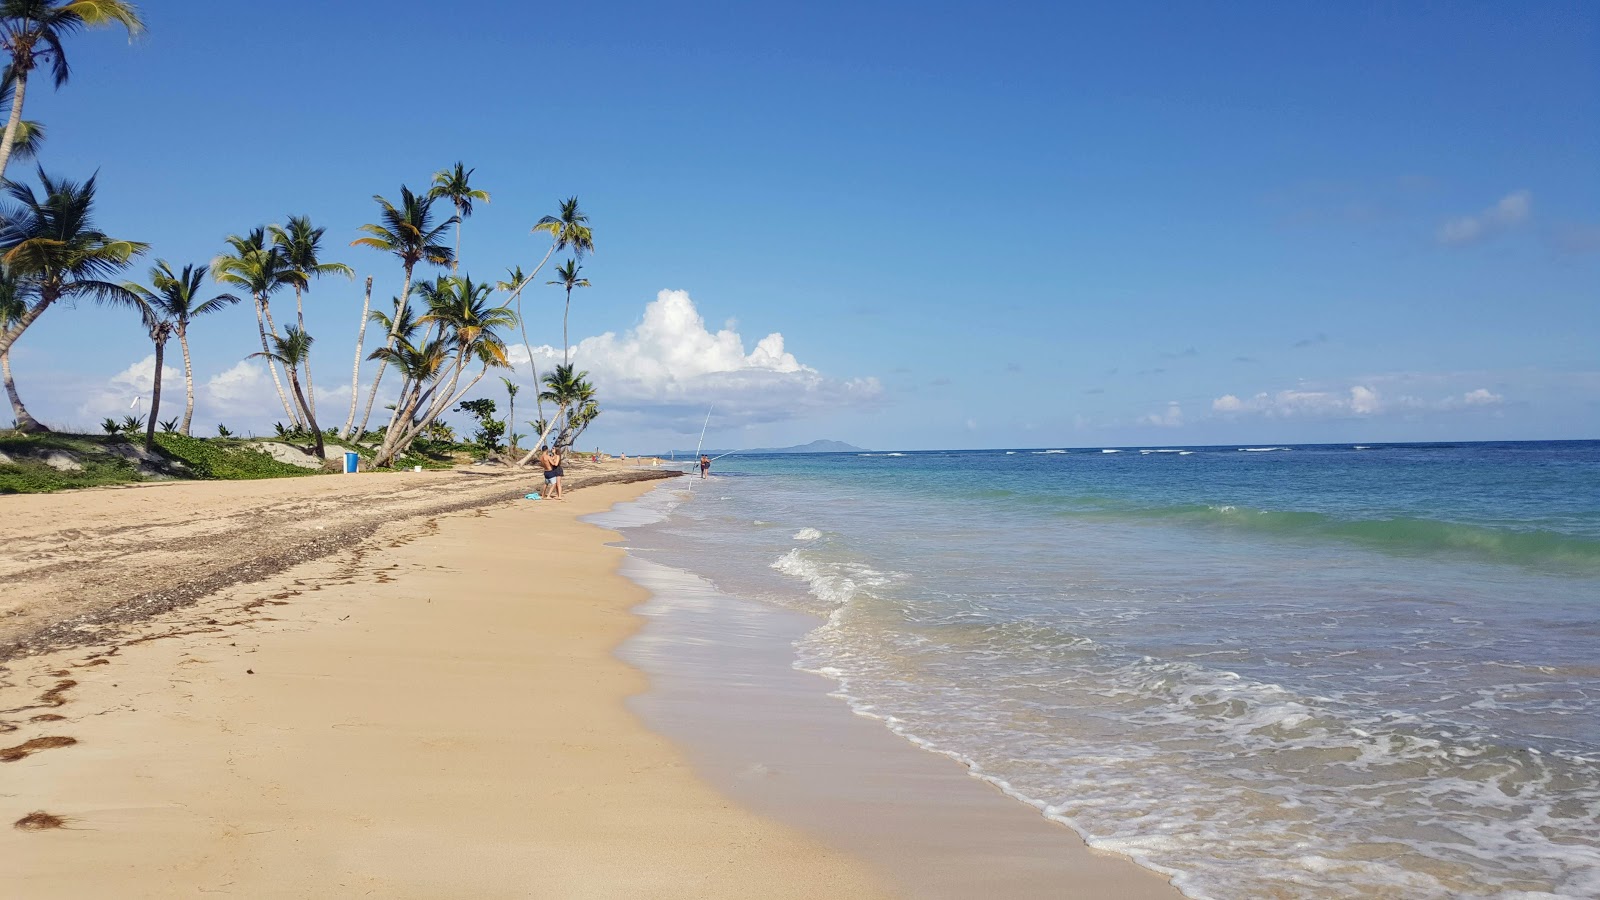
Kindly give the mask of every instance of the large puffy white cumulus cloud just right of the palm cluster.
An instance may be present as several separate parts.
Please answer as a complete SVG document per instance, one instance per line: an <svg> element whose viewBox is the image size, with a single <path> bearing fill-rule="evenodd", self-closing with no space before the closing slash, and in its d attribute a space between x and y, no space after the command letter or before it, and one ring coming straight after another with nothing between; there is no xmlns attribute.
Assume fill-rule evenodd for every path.
<svg viewBox="0 0 1600 900"><path fill-rule="evenodd" d="M781 333L746 351L731 325L710 331L688 291L662 290L645 306L638 325L584 338L573 346L571 360L589 373L602 408L659 423L680 423L709 405L728 423L773 423L882 399L877 378L824 376L795 359ZM536 346L533 356L546 373L562 360L562 349ZM528 362L520 344L510 357L517 365Z"/></svg>

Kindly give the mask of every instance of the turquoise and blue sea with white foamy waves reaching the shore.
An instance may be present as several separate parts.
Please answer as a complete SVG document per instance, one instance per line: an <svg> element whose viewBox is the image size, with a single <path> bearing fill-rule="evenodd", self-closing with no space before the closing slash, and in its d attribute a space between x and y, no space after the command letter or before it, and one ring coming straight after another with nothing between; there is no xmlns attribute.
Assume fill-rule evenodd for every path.
<svg viewBox="0 0 1600 900"><path fill-rule="evenodd" d="M715 472L635 552L1192 897L1600 897L1600 442Z"/></svg>

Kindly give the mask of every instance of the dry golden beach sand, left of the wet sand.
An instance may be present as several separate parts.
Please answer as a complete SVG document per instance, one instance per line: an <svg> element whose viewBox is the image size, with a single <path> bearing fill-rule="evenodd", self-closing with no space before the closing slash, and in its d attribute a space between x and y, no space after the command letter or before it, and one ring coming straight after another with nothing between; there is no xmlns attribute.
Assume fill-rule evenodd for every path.
<svg viewBox="0 0 1600 900"><path fill-rule="evenodd" d="M314 522L333 514L315 509L326 496L296 488L342 480L360 479L248 487ZM150 512L178 533L218 487L234 488L149 488ZM0 748L77 743L0 762L3 822L66 820L0 828L3 892L882 895L861 863L731 806L624 708L646 685L613 649L643 594L614 573L608 533L574 517L642 490L413 520L411 536L379 532L370 552L235 585L110 647L13 660ZM58 530L109 527L94 512L107 496L126 503L94 492L29 509Z"/></svg>

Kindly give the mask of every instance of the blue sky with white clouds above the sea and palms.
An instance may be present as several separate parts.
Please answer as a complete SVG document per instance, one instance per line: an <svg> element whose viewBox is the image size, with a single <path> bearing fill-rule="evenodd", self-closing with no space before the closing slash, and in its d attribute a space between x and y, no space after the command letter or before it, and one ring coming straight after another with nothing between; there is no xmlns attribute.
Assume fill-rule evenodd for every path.
<svg viewBox="0 0 1600 900"><path fill-rule="evenodd" d="M494 280L576 194L608 448L683 445L712 404L728 447L1600 437L1600 8L1214 6L146 3L27 114L154 245L134 279L304 213L390 296L347 247L371 195L464 160L493 194L464 269ZM528 299L558 356L560 295ZM309 296L326 405L360 301ZM202 432L282 418L251 319L195 327ZM13 367L91 426L146 357L80 304Z"/></svg>

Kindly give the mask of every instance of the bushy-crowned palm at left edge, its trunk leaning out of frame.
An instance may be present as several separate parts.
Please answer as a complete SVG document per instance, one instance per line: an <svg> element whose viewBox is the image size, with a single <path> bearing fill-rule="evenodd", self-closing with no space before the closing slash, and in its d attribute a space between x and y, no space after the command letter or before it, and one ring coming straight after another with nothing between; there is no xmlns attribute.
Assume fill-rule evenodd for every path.
<svg viewBox="0 0 1600 900"><path fill-rule="evenodd" d="M78 184L38 171L43 197L27 184L6 181L10 203L0 210L0 266L27 285L21 314L0 333L0 354L58 299L91 298L136 306L139 298L107 280L126 269L149 245L118 240L94 227L94 178Z"/></svg>

